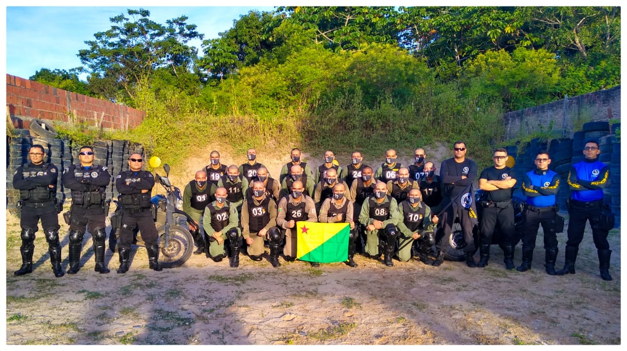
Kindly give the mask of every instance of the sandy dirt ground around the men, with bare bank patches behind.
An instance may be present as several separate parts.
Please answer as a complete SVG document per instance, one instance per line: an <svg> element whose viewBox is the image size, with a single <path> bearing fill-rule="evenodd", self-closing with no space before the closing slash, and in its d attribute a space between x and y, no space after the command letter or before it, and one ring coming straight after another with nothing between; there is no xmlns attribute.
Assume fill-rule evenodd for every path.
<svg viewBox="0 0 627 351"><path fill-rule="evenodd" d="M190 158L181 171L173 170L172 183L182 188L206 165L209 151L210 147L205 156ZM436 164L449 157L442 150L431 152L436 151L441 156ZM222 153L225 164L245 160L245 155L229 158L228 151ZM270 163L266 159L271 156L262 155L259 161L278 176L289 149L272 155L280 162ZM343 154L340 164L348 159ZM261 262L240 256L237 268L226 260L216 263L194 255L184 266L162 272L148 269L144 247L134 246L128 273L115 273L117 254L107 251L105 261L112 272L98 274L93 271L92 240L86 234L81 271L55 278L41 229L33 273L13 275L21 264L19 220L6 215L8 345L621 343L619 230L612 230L608 238L614 278L609 282L599 277L589 226L577 273L567 276L545 274L540 229L532 270L525 273L506 271L497 246L484 269L450 261L433 267L414 259L406 263L395 259L394 267L386 267L363 256L356 256L356 268L342 263L314 268L281 258L282 266L275 269L266 254ZM66 268L67 226L61 226ZM558 240L559 268L564 264L566 232L558 234ZM520 256L518 245L517 265Z"/></svg>

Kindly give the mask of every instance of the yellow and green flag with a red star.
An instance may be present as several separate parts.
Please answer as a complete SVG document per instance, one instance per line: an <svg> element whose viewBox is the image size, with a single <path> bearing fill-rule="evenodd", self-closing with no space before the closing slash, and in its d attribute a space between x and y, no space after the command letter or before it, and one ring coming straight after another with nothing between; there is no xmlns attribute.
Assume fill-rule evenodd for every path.
<svg viewBox="0 0 627 351"><path fill-rule="evenodd" d="M344 262L348 259L348 223L296 222L296 257L309 262Z"/></svg>

